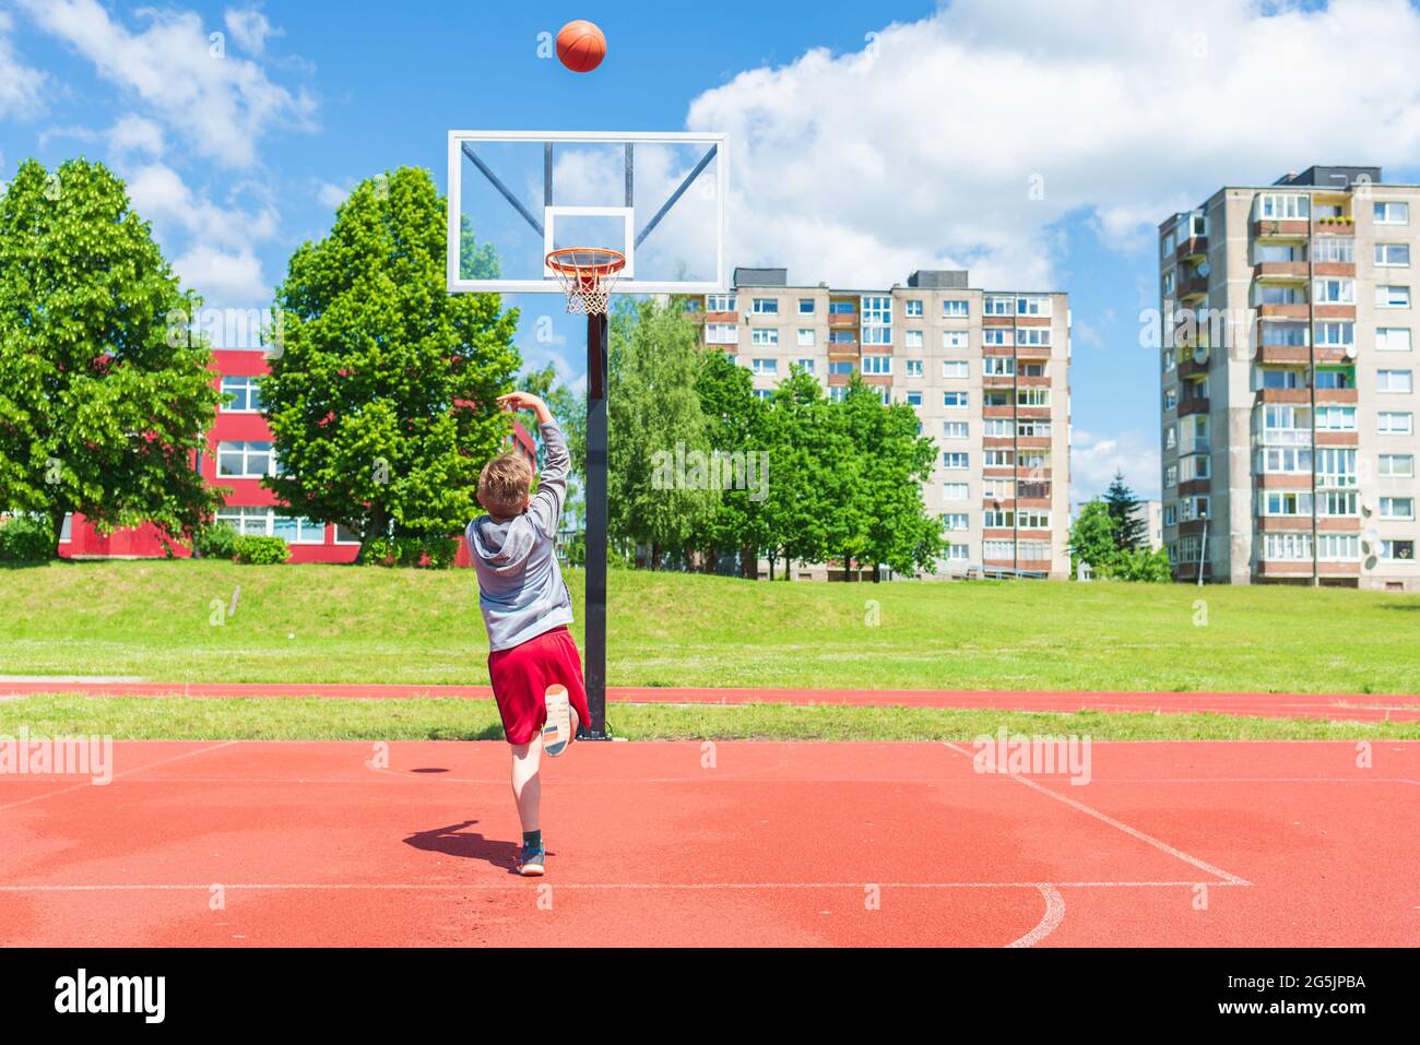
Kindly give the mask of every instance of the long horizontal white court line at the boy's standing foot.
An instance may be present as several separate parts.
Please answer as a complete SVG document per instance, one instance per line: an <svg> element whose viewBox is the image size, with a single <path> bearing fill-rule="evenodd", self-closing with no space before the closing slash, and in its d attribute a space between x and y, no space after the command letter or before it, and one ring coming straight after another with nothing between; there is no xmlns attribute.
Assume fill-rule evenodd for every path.
<svg viewBox="0 0 1420 1045"><path fill-rule="evenodd" d="M1194 889L1198 885L1223 887L1233 885L1247 885L1245 882L550 882L545 877L537 882L247 882L230 885L224 882L209 882L204 885L0 885L0 893L122 893L122 892L212 892L214 885L220 885L227 892L241 890L271 890L271 892L450 892L450 890L530 890L540 885L551 885L555 889L586 889L586 890L632 890L648 889L657 892L714 892L717 889L754 890L754 889L855 889L876 886L878 889L1035 889L1042 896L1045 890L1055 889ZM1049 896L1047 896L1049 902ZM1064 903L1064 902L1062 902Z"/></svg>

